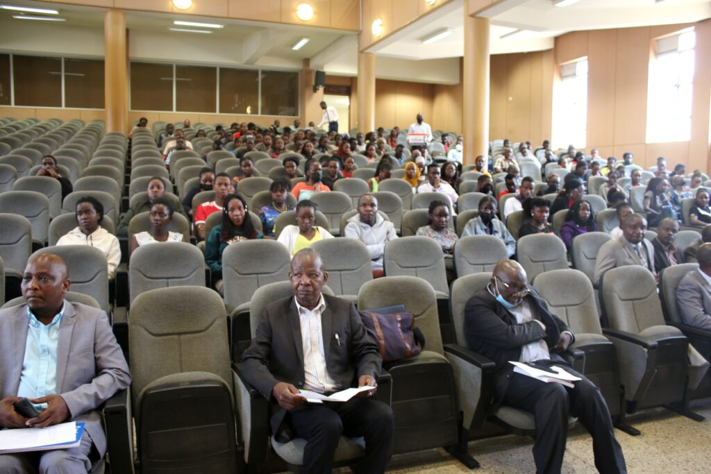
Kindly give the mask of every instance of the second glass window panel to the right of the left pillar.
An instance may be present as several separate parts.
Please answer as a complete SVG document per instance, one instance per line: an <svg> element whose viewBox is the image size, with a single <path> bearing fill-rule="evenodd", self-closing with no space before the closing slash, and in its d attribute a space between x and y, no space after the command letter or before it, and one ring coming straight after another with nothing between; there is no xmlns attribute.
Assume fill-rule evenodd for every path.
<svg viewBox="0 0 711 474"><path fill-rule="evenodd" d="M176 111L216 112L217 68L176 66Z"/></svg>

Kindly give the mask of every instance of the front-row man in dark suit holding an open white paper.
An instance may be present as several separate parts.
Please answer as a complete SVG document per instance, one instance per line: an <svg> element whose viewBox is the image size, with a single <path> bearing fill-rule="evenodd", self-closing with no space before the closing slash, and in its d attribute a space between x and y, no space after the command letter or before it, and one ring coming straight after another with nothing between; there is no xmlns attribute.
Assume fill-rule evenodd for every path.
<svg viewBox="0 0 711 474"><path fill-rule="evenodd" d="M361 392L345 403L309 404L299 389L331 393L376 387L378 345L370 339L353 303L326 296L321 256L303 249L292 259L294 297L264 308L252 345L242 356L247 382L273 402L277 441L306 439L302 473L330 473L341 434L365 438L358 473L383 473L392 453L392 410ZM276 406L278 404L278 406Z"/></svg>

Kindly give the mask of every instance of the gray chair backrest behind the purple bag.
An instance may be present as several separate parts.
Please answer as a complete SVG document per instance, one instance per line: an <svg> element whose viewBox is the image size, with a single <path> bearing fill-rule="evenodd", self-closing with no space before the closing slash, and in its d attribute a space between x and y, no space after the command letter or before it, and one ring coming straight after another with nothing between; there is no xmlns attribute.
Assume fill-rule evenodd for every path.
<svg viewBox="0 0 711 474"><path fill-rule="evenodd" d="M402 239L390 242L397 242L397 240ZM414 325L422 331L427 350L442 354L437 296L432 285L427 281L416 276L384 276L368 281L358 291L360 311L400 304L405 305L405 311L409 311L414 316Z"/></svg>

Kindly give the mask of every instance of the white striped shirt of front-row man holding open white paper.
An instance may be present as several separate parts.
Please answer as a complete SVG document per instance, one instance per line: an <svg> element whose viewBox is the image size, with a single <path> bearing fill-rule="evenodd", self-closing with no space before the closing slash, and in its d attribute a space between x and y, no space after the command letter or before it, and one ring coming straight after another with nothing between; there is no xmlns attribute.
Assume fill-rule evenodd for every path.
<svg viewBox="0 0 711 474"><path fill-rule="evenodd" d="M324 352L324 333L321 328L321 314L326 310L326 301L321 294L321 300L316 308L309 309L296 301L301 325L301 345L304 348L304 389L313 392L336 392L338 382L328 375L326 355Z"/></svg>

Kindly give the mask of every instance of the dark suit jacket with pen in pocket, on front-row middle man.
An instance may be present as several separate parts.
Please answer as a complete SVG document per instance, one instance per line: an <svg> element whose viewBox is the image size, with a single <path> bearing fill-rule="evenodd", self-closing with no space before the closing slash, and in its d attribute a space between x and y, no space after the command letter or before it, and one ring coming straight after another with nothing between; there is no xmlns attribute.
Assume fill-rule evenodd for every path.
<svg viewBox="0 0 711 474"><path fill-rule="evenodd" d="M327 295L324 301L321 326L328 375L343 389L357 386L361 375L377 379L382 364L380 350L365 331L353 303ZM242 355L240 370L247 382L275 405L272 432L278 433L286 411L272 397L274 385L287 382L304 388L304 347L294 296L264 308L252 345Z"/></svg>

